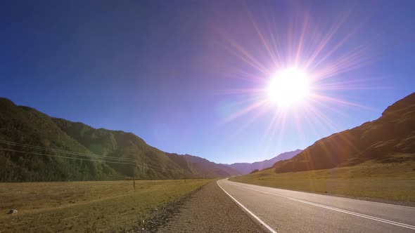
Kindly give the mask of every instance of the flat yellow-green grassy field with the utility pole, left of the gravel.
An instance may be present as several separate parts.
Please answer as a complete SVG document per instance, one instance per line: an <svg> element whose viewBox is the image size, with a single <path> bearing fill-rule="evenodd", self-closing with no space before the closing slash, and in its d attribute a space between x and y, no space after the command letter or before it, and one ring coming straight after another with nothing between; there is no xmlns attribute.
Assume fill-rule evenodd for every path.
<svg viewBox="0 0 415 233"><path fill-rule="evenodd" d="M0 231L123 232L209 181L139 180L135 191L132 181L0 183Z"/></svg>

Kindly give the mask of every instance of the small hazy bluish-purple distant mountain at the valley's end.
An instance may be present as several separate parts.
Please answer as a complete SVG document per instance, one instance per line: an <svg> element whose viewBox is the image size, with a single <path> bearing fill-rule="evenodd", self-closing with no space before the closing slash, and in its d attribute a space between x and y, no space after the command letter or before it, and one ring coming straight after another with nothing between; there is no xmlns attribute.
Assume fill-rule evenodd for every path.
<svg viewBox="0 0 415 233"><path fill-rule="evenodd" d="M262 170L264 168L270 168L272 165L274 165L277 161L285 160L285 159L291 159L296 154L302 152L301 149L296 149L292 152L284 152L282 154L277 155L276 157L272 159L267 159L264 161L257 161L255 163L236 163L236 164L226 164L227 166L236 169L236 171L239 171L239 173L245 175L249 174L254 170Z"/></svg>

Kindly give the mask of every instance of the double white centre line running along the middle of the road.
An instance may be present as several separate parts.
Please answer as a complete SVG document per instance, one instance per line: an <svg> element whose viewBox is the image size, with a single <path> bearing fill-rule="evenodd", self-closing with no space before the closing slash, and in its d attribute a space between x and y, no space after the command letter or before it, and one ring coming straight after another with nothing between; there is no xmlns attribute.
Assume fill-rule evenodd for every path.
<svg viewBox="0 0 415 233"><path fill-rule="evenodd" d="M278 196L278 197L285 197L285 198L290 199L292 201L298 201L298 202L302 202L304 204L309 204L309 205L313 205L313 206L319 206L321 208L327 208L327 209L332 210L332 211L338 211L338 212L341 212L341 213L347 213L347 214L350 214L350 215L356 215L356 216L359 216L359 217L362 217L362 218L368 218L368 219L375 220L375 221L378 221L378 222L385 222L385 223L388 223L388 224L391 224L391 225L396 225L396 226L399 226L399 227L405 227L405 228L409 228L409 229L415 229L415 226L408 225L408 224L404 224L404 223L401 223L401 222L395 222L395 221L386 220L386 219L383 219L383 218L376 218L376 217L373 217L373 216L370 216L370 215L364 215L362 213L355 213L355 212L352 212L352 211L346 211L346 210L343 210L343 209L340 209L340 208L334 208L334 207L331 207L331 206L324 206L324 205L317 204L317 203L314 203L314 202L303 201L303 200L300 200L300 199L296 199L296 198L293 198L293 197L284 196L284 195L281 195L281 194L274 194L272 192L265 192L265 191L258 190L258 189L252 189L250 187L244 187L243 185L236 185L236 184L231 183L231 182L229 182L229 184L235 185L235 186L238 186L238 187L243 187L244 189L250 189L250 190L253 190L253 191L257 191L257 192L262 192L264 194L272 194L272 195Z"/></svg>

